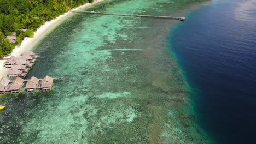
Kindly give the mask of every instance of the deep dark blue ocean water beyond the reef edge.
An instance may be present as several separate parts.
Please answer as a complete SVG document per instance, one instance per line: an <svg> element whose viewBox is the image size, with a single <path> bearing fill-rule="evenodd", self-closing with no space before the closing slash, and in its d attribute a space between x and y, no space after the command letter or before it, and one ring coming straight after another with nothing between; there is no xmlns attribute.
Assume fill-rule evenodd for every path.
<svg viewBox="0 0 256 144"><path fill-rule="evenodd" d="M256 1L210 1L169 40L210 138L256 143Z"/></svg>

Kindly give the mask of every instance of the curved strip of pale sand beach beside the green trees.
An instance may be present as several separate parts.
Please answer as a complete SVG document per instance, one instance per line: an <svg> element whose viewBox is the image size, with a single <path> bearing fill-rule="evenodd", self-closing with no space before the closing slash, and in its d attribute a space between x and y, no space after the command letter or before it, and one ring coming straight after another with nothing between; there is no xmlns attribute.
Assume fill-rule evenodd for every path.
<svg viewBox="0 0 256 144"><path fill-rule="evenodd" d="M96 4L101 1L104 1L104 0L96 0L94 3L86 3L84 5L80 5L79 7L74 8L72 10L84 9L86 7L89 7L93 4ZM32 37L32 38L25 37L25 39L22 40L21 46L16 46L15 49L13 50L13 52L11 52L10 55L5 56L4 58L9 58L11 56L18 57L21 55L21 53L31 50L33 48L33 46L36 45L40 39L45 37L45 35L49 34L49 32L53 31L53 29L55 29L57 26L59 26L63 20L65 20L69 16L74 15L74 13L71 12L72 10L56 17L55 19L53 19L51 21L45 22L44 25L40 26L37 29L37 31L34 32L34 37ZM7 77L7 72L9 70L9 69L3 67L4 62L5 62L5 60L0 60L0 77Z"/></svg>

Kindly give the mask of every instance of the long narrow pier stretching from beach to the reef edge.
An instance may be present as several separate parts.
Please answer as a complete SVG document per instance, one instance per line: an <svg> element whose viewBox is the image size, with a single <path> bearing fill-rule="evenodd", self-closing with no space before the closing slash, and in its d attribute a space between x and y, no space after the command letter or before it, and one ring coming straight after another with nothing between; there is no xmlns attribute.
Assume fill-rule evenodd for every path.
<svg viewBox="0 0 256 144"><path fill-rule="evenodd" d="M159 18L159 19L171 19L171 20L185 21L185 17L173 17L173 16L102 13L102 12L96 12L96 11L71 11L71 12L72 12L72 13L101 14L101 15L120 15L120 16L135 16L135 17L152 17L152 18Z"/></svg>

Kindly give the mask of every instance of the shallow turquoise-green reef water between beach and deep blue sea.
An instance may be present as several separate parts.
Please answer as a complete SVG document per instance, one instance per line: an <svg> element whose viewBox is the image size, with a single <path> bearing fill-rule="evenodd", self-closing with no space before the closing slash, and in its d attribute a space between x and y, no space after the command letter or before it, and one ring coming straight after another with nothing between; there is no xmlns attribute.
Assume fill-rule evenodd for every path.
<svg viewBox="0 0 256 144"><path fill-rule="evenodd" d="M183 16L202 3L107 1L91 8ZM3 143L205 143L166 35L178 21L77 14L34 48L27 77L50 92L3 95ZM6 115L5 115L6 114Z"/></svg>

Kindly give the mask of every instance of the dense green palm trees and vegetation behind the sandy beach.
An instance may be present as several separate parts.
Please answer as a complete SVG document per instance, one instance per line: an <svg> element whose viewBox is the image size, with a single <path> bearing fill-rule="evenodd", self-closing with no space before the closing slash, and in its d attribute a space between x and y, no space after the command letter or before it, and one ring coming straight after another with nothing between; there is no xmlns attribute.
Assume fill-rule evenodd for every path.
<svg viewBox="0 0 256 144"><path fill-rule="evenodd" d="M15 44L20 45L24 37L33 37L33 32L46 21L93 0L0 0L0 57L8 55ZM19 29L27 29L20 32ZM16 32L15 43L3 40Z"/></svg>

